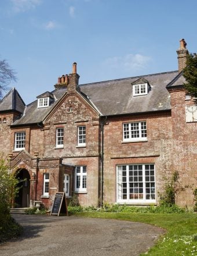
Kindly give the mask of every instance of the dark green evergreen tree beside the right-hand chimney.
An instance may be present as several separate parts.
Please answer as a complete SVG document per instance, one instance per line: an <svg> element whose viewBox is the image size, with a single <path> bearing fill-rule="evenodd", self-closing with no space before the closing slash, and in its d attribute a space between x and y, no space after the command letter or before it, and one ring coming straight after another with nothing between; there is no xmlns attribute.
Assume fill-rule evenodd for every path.
<svg viewBox="0 0 197 256"><path fill-rule="evenodd" d="M185 89L193 97L197 97L197 55L189 54L187 56L186 67L183 69L183 76L186 83Z"/></svg>

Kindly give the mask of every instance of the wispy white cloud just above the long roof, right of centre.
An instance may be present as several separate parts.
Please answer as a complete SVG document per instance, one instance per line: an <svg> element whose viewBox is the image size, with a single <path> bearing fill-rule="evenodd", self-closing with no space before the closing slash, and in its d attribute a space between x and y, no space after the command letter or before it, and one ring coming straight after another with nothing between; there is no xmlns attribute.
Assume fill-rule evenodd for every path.
<svg viewBox="0 0 197 256"><path fill-rule="evenodd" d="M150 60L150 57L141 54L127 54L108 58L104 61L104 65L111 67L111 69L133 72L144 69Z"/></svg>

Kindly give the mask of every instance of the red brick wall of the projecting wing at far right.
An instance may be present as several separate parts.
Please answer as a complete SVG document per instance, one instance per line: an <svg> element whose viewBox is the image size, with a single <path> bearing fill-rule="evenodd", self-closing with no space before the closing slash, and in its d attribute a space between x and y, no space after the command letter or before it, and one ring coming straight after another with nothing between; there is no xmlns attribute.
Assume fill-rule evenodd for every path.
<svg viewBox="0 0 197 256"><path fill-rule="evenodd" d="M173 170L180 173L182 186L191 186L178 193L177 204L194 204L194 189L197 187L197 122L186 123L185 106L195 104L185 100L184 90L170 91L172 104Z"/></svg>

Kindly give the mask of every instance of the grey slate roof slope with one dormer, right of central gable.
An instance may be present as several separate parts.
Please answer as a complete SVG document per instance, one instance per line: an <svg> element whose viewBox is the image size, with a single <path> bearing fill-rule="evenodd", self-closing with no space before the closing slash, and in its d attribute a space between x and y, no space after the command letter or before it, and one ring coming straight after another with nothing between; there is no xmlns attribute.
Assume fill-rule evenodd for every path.
<svg viewBox="0 0 197 256"><path fill-rule="evenodd" d="M177 74L178 71L173 71L83 84L81 91L88 95L103 115L107 116L165 111L171 109L170 94L166 86ZM148 81L151 90L147 95L133 97L132 83L140 78Z"/></svg>

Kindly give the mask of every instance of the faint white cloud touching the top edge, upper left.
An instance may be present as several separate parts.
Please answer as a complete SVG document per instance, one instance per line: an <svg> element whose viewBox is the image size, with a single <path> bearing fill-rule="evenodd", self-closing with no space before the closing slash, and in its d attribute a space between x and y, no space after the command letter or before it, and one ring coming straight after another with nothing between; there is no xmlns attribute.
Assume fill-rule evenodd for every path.
<svg viewBox="0 0 197 256"><path fill-rule="evenodd" d="M41 0L11 0L13 3L14 12L25 12L35 8Z"/></svg>

